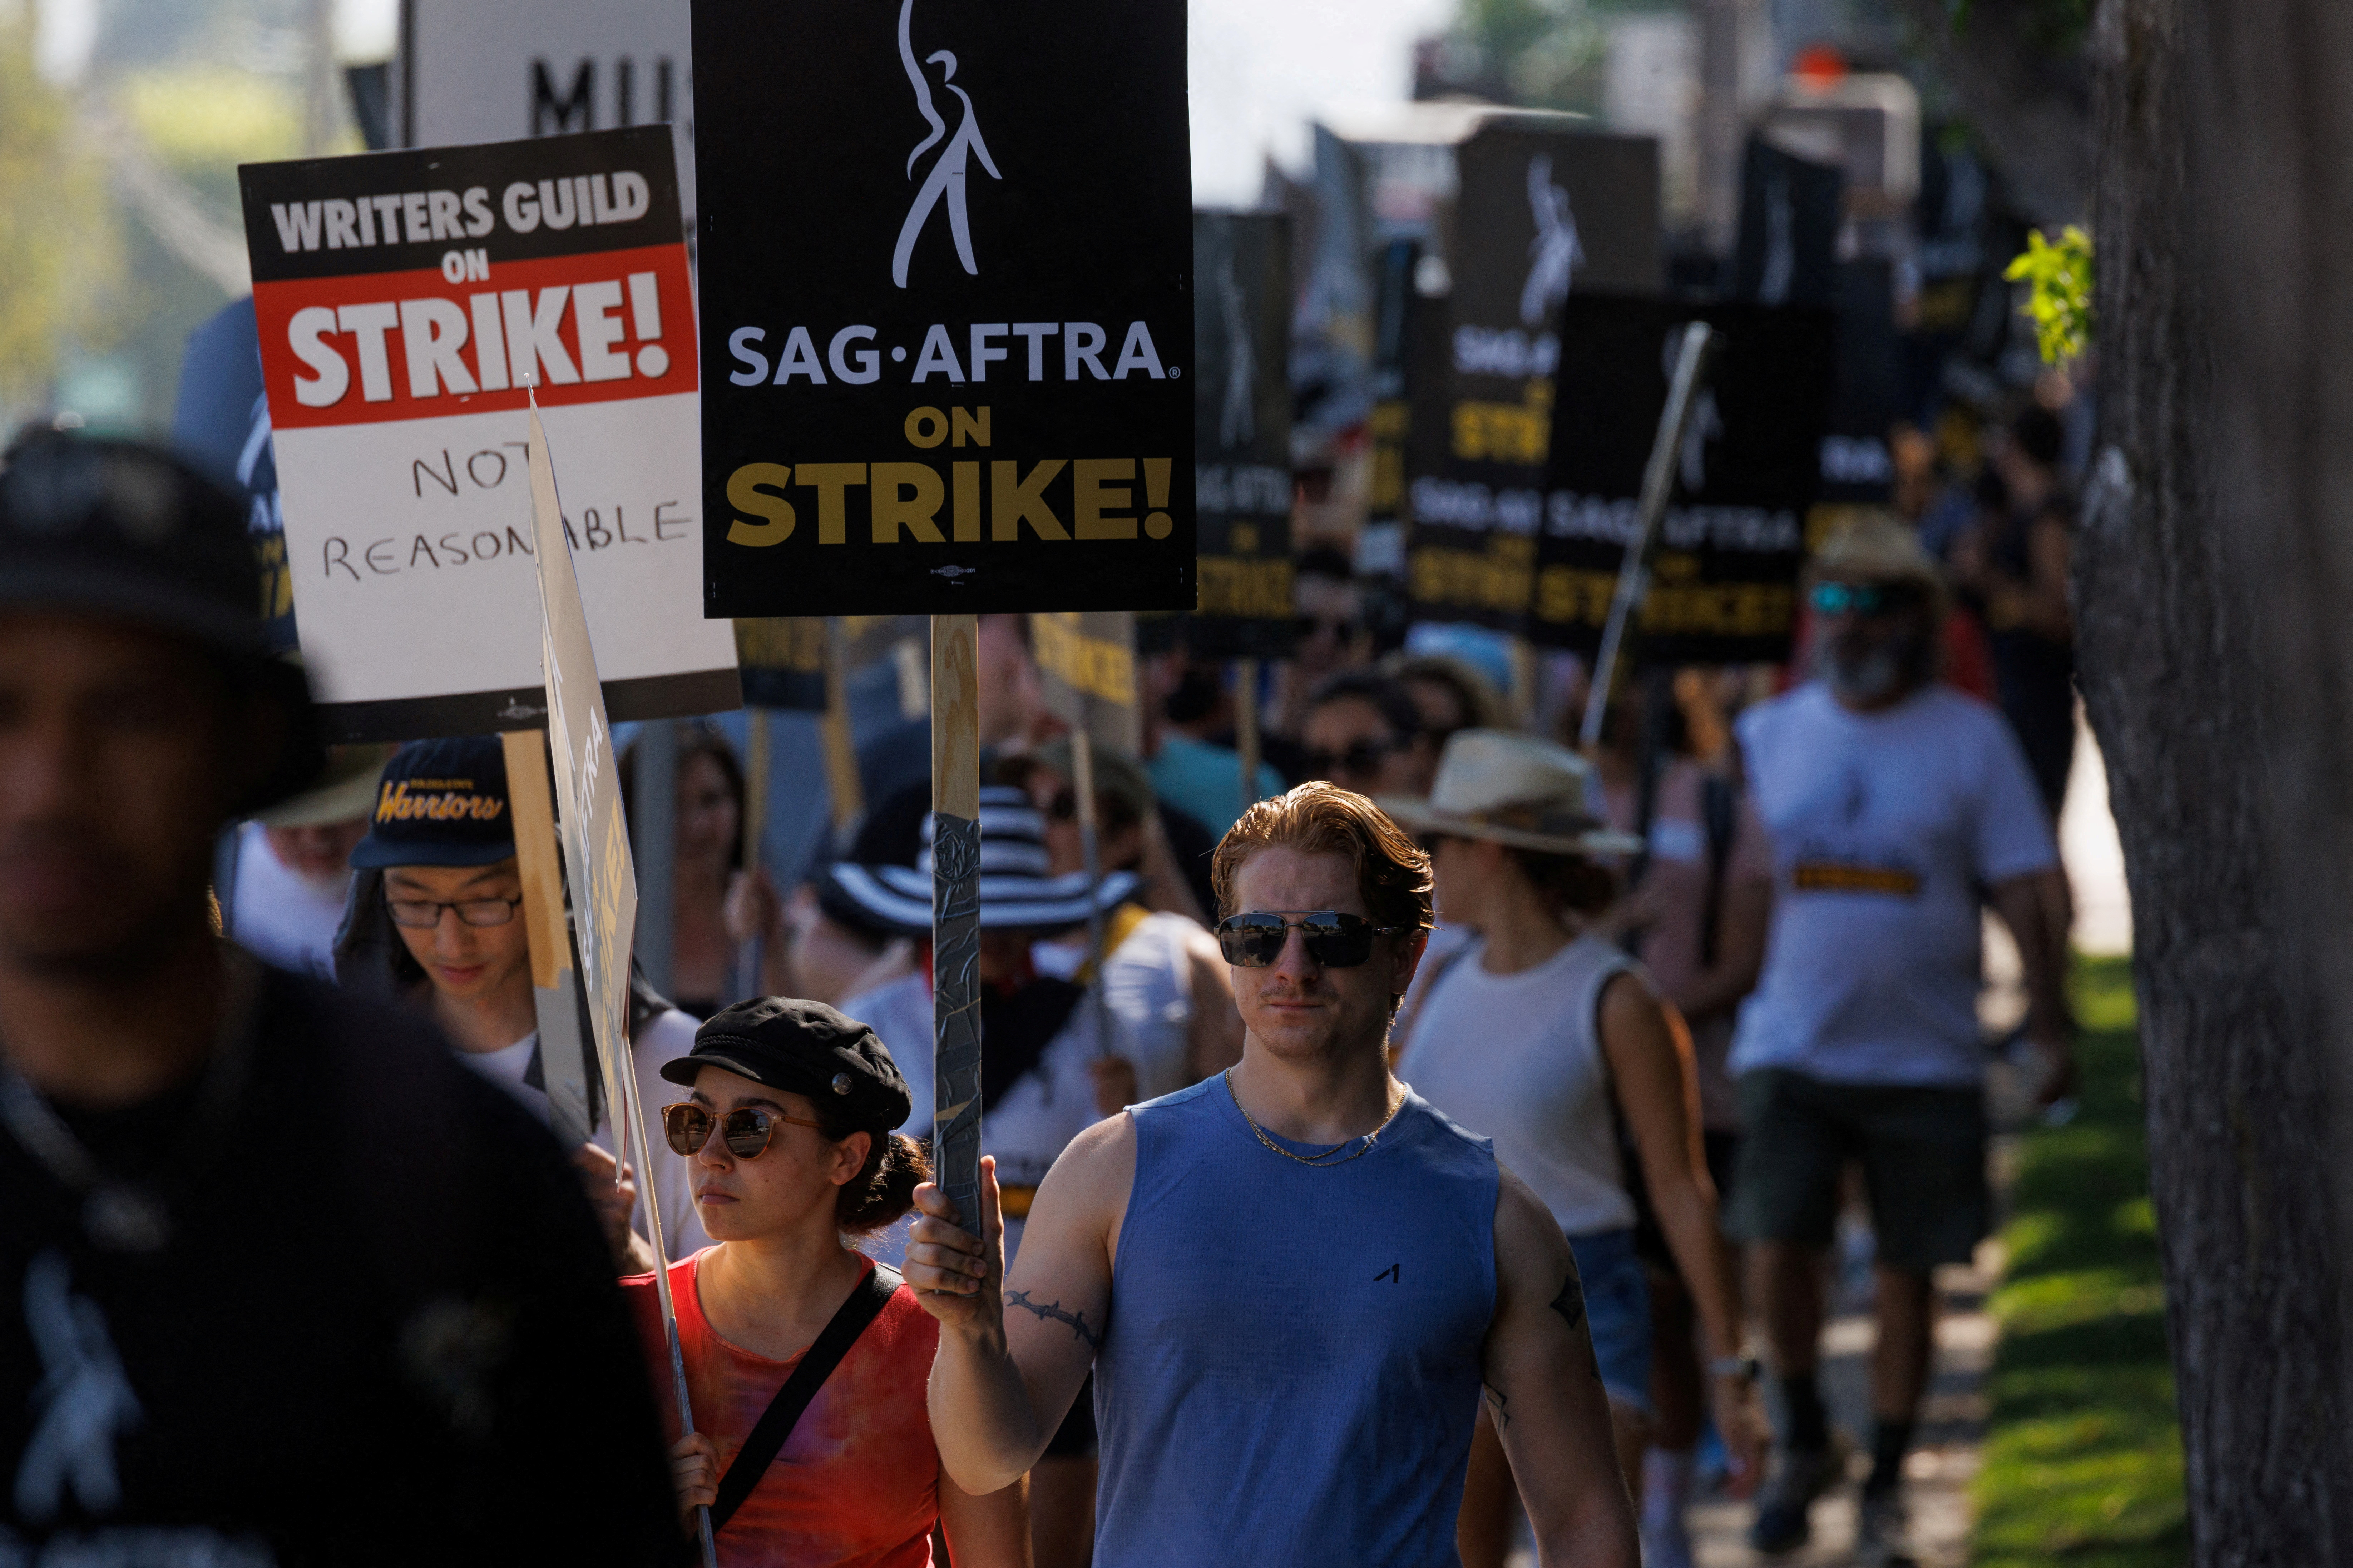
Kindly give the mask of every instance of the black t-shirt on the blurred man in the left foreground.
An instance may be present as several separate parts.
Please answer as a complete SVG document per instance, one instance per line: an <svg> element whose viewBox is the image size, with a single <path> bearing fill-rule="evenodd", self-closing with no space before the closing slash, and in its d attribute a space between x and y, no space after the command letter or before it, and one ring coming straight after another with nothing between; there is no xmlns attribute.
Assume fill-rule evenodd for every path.
<svg viewBox="0 0 2353 1568"><path fill-rule="evenodd" d="M654 1389L576 1171L416 1018L264 971L247 1077L66 1114L169 1241L0 1126L0 1563L656 1563Z"/></svg>

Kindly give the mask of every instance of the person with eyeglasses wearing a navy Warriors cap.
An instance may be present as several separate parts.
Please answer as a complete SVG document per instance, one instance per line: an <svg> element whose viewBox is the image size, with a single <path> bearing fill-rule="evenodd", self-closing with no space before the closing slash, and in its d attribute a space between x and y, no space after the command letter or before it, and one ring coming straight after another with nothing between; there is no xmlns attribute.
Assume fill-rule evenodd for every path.
<svg viewBox="0 0 2353 1568"><path fill-rule="evenodd" d="M548 1119L532 992L529 922L506 799L506 748L496 736L414 741L376 780L367 837L351 851L360 884L339 945L336 973L362 992L424 1006L461 1063ZM376 912L398 936L381 940ZM642 985L631 994L638 1098L664 1105L659 1067L694 1048L694 1020ZM614 1107L576 1154L588 1199L605 1220L616 1262L654 1267L645 1225L633 1227L638 1182L614 1182ZM708 1246L694 1211L692 1166L656 1152L661 1234L673 1258Z"/></svg>

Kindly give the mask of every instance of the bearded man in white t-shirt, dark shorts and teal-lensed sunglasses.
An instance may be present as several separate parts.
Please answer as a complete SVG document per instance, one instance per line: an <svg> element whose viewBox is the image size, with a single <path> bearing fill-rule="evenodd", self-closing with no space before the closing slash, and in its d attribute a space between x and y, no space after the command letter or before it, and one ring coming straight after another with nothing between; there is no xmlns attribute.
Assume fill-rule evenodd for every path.
<svg viewBox="0 0 2353 1568"><path fill-rule="evenodd" d="M1732 1232L1751 1244L1784 1432L1751 1544L1791 1552L1842 1469L1814 1382L1824 1251L1861 1164L1875 1232L1873 1467L1857 1561L1901 1556L1901 1474L1934 1354L1932 1269L1988 1225L1986 903L2019 940L2028 1039L2073 1072L2059 853L2002 715L1934 679L1944 588L1911 529L1873 517L1817 559L1821 677L1739 722L1774 844L1765 971L1732 1044L1746 1143Z"/></svg>

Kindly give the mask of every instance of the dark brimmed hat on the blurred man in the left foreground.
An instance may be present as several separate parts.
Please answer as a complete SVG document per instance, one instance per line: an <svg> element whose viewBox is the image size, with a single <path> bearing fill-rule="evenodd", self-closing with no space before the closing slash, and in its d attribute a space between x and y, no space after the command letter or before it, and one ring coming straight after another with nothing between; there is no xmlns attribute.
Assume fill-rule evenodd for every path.
<svg viewBox="0 0 2353 1568"><path fill-rule="evenodd" d="M188 637L287 715L280 757L240 806L299 792L325 764L301 668L273 658L245 503L162 447L19 440L0 468L0 609L68 609Z"/></svg>

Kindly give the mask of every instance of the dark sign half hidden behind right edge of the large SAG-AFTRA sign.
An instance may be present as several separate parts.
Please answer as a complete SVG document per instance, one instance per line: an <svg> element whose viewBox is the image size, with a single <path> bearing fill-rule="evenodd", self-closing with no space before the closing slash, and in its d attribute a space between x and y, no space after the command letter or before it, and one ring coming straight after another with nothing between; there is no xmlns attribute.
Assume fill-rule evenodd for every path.
<svg viewBox="0 0 2353 1568"><path fill-rule="evenodd" d="M1193 484L1202 658L1292 649L1289 219L1193 214ZM1134 748L1129 748L1134 750Z"/></svg>

